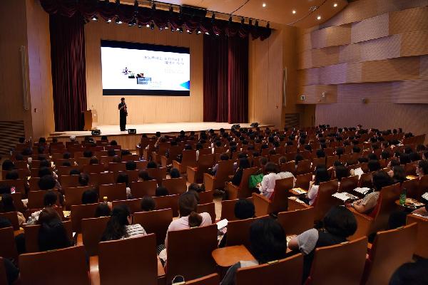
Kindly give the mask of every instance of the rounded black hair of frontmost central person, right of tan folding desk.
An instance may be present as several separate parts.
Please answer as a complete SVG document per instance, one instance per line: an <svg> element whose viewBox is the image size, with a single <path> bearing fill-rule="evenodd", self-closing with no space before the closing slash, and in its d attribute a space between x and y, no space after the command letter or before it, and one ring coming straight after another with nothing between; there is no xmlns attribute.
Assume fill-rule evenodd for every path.
<svg viewBox="0 0 428 285"><path fill-rule="evenodd" d="M285 232L270 217L255 220L250 226L250 252L260 264L285 257Z"/></svg>

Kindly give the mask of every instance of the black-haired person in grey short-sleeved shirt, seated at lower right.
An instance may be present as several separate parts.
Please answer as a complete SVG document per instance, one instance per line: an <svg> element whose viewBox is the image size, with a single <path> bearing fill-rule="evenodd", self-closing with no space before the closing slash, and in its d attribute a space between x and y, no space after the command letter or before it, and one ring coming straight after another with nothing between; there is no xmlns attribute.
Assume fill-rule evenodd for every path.
<svg viewBox="0 0 428 285"><path fill-rule="evenodd" d="M323 229L309 229L297 237L293 237L288 243L288 248L299 251L305 255L303 259L302 283L310 274L312 260L317 247L327 247L334 244L347 242L347 237L357 231L357 220L354 214L342 206L330 209L323 219Z"/></svg>

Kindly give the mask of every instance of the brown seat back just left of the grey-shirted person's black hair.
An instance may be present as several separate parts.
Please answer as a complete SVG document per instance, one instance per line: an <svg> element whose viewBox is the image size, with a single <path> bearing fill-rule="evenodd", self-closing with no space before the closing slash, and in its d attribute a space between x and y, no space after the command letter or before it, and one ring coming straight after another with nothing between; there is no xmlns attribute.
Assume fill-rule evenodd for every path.
<svg viewBox="0 0 428 285"><path fill-rule="evenodd" d="M297 209L288 212L279 212L277 221L281 224L285 234L301 234L314 227L314 207Z"/></svg>

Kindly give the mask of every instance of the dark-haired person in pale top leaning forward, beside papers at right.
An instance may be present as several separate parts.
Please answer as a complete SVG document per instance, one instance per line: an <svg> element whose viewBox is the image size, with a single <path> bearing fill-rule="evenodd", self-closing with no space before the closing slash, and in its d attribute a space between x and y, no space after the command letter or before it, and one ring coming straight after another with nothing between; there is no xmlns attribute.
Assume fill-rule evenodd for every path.
<svg viewBox="0 0 428 285"><path fill-rule="evenodd" d="M374 207L377 205L379 192L382 190L382 187L394 184L394 180L392 180L392 178L389 177L386 172L377 171L373 173L372 184L373 189L370 193L365 195L364 198L359 199L351 204L352 207L357 210L357 212L366 214L372 212L372 209L374 209Z"/></svg>

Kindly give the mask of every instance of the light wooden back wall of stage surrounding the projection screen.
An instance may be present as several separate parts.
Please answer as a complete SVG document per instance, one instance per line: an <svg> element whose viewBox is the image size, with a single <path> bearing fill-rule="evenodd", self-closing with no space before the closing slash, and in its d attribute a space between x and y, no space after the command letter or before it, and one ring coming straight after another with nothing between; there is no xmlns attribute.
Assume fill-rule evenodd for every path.
<svg viewBox="0 0 428 285"><path fill-rule="evenodd" d="M98 110L99 125L118 124L117 105L121 95L103 96L101 82L101 39L152 43L190 48L190 96L126 96L128 124L200 122L203 120L203 37L188 33L128 25L91 22L85 26L86 90L88 108Z"/></svg>

